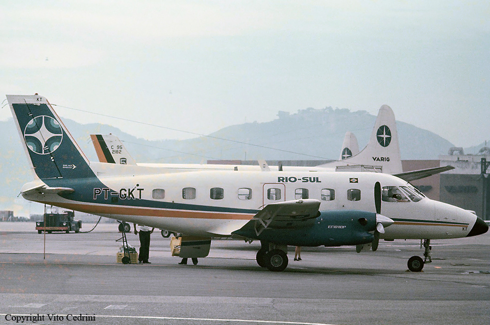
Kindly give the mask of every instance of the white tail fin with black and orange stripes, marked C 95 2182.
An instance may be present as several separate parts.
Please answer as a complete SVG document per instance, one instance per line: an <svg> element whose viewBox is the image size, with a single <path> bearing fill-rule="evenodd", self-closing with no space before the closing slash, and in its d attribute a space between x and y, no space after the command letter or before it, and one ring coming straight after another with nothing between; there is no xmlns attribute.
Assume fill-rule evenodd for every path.
<svg viewBox="0 0 490 325"><path fill-rule="evenodd" d="M136 165L121 140L112 134L91 134L90 138L101 163L117 163L122 165Z"/></svg>

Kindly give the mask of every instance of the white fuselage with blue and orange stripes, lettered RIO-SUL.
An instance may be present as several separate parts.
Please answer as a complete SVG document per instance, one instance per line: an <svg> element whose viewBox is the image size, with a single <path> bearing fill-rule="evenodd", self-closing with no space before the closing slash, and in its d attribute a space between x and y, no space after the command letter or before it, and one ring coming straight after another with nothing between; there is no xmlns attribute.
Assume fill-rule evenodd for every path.
<svg viewBox="0 0 490 325"><path fill-rule="evenodd" d="M430 200L420 193L416 193L415 199L408 199L415 189L407 182L387 174L187 171L145 175L154 168L116 164L102 164L94 168L96 166L92 163L91 166L98 170L96 174L105 186L84 188L91 197L85 195L83 200L73 200L70 196L57 194L24 196L28 200L173 232L219 237L229 236L245 225L258 210L280 201L310 198L320 201L320 211L345 209L374 212L373 188L379 182L387 188L405 186L407 196L400 202L382 202L381 214L391 218L394 224L386 228L381 238L465 237L476 221L474 214ZM25 187L29 186L32 187L32 184Z"/></svg>

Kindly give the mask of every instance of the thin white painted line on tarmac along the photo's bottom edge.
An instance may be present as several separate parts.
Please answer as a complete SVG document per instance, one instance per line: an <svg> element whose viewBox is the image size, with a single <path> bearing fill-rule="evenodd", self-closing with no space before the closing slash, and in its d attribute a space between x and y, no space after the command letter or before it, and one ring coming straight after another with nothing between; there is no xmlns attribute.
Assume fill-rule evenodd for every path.
<svg viewBox="0 0 490 325"><path fill-rule="evenodd" d="M5 317L10 316L32 316L32 314L0 314ZM222 319L222 318L192 318L192 317L163 317L163 316L118 316L118 315L82 315L95 318L125 318L125 319L148 319L148 320L176 320L176 321L205 321L205 322L240 322L240 323L258 323L258 324L290 324L290 325L335 325L326 323L305 323L305 322L288 322L288 321L258 321L245 319Z"/></svg>

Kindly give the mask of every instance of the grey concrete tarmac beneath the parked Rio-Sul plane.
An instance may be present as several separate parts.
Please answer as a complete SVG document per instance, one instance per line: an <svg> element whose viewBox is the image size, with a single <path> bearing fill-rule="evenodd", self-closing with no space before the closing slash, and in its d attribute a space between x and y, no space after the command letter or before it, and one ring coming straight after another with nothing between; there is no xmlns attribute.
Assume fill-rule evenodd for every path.
<svg viewBox="0 0 490 325"><path fill-rule="evenodd" d="M0 324L490 321L489 233L433 240L433 262L421 273L407 272L408 258L423 254L415 240L380 242L377 252L361 254L354 247L303 247L297 262L291 247L288 268L274 273L257 265L258 242L214 240L198 265L178 265L170 239L154 232L152 263L123 265L116 263L117 224L46 236L34 228L0 223ZM138 237L127 236L138 248Z"/></svg>

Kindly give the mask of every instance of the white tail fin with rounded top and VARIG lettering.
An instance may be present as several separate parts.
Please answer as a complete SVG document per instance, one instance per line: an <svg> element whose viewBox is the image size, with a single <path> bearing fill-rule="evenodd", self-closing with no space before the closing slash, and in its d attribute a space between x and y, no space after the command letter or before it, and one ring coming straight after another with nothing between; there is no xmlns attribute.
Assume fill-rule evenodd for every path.
<svg viewBox="0 0 490 325"><path fill-rule="evenodd" d="M383 105L379 109L366 148L350 158L323 164L319 167L347 165L381 166L382 172L386 174L397 174L403 171L395 116L390 106Z"/></svg>

